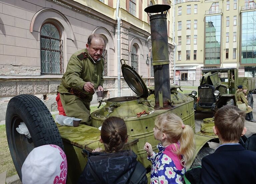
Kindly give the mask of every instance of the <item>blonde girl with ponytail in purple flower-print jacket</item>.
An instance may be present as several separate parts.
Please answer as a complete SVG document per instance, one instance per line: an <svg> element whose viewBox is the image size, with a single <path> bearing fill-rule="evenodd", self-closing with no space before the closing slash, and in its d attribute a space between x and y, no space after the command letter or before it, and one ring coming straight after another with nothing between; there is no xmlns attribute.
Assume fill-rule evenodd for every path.
<svg viewBox="0 0 256 184"><path fill-rule="evenodd" d="M194 155L194 131L184 125L175 114L162 114L155 120L154 136L161 143L159 152L146 142L144 149L152 162L150 183L183 183L186 167L192 164Z"/></svg>

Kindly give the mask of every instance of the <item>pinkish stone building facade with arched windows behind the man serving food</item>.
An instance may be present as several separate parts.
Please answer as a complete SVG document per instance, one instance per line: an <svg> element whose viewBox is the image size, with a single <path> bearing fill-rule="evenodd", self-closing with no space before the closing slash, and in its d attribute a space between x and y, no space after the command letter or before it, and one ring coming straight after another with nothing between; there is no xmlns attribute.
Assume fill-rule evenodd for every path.
<svg viewBox="0 0 256 184"><path fill-rule="evenodd" d="M121 59L137 68L147 86L154 85L154 76L150 24L144 9L154 4L172 2L124 0L119 12ZM57 86L68 60L85 48L88 36L94 33L103 35L107 43L105 95L116 97L119 61L115 11L115 0L0 0L0 120L5 119L9 99L19 94L36 95L50 111L55 111ZM171 15L167 14L170 81L174 49ZM131 95L135 94L121 77L121 96ZM95 103L96 97L92 101Z"/></svg>

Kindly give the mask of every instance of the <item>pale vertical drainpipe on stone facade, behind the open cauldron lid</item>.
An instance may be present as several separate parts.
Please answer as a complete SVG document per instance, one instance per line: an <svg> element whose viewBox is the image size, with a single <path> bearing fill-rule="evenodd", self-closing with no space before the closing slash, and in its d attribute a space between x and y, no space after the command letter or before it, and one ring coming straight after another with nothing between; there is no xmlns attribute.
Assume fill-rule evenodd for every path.
<svg viewBox="0 0 256 184"><path fill-rule="evenodd" d="M120 55L120 17L119 17L120 0L116 1L115 17L117 20L117 95L121 96L121 55Z"/></svg>

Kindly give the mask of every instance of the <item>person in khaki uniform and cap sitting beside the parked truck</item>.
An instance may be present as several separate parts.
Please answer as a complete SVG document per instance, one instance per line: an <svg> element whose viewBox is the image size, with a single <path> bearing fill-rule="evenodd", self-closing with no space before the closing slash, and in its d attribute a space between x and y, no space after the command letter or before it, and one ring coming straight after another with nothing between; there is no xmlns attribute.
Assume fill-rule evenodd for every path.
<svg viewBox="0 0 256 184"><path fill-rule="evenodd" d="M247 87L243 86L242 87L242 91L240 93L238 93L237 95L237 104L245 104L246 105L246 120L250 121L250 122L256 122L256 120L253 119L253 114L252 114L252 108L251 106L248 105L248 101L246 99L246 91L247 91Z"/></svg>

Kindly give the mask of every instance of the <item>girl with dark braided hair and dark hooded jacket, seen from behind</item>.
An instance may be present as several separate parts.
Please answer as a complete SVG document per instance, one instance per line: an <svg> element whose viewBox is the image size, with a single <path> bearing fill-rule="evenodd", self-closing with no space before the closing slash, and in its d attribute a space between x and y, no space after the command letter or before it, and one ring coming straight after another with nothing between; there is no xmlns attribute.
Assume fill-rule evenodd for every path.
<svg viewBox="0 0 256 184"><path fill-rule="evenodd" d="M90 152L83 149L88 160L78 184L147 183L146 169L137 161L137 155L132 150L123 150L128 135L122 118L105 119L99 140L105 150L96 148Z"/></svg>

